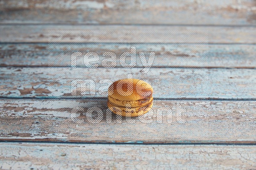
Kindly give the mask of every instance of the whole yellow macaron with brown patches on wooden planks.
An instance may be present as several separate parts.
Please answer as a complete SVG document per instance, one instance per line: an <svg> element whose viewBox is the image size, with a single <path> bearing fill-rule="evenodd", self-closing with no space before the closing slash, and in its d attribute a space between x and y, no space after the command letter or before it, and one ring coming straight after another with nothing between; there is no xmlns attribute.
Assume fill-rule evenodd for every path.
<svg viewBox="0 0 256 170"><path fill-rule="evenodd" d="M108 108L117 115L138 117L152 108L152 95L153 88L146 81L118 80L108 88Z"/></svg>

